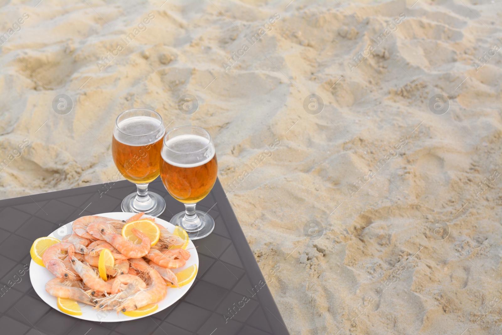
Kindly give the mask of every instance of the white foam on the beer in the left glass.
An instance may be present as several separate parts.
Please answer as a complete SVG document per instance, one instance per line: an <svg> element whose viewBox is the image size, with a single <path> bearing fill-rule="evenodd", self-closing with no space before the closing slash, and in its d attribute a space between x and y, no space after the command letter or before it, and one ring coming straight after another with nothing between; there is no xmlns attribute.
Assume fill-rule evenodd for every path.
<svg viewBox="0 0 502 335"><path fill-rule="evenodd" d="M159 128L161 122L148 116L138 116L128 118L118 123L118 130L113 129L115 139L130 146L145 146L159 141L165 134L165 129ZM156 131L158 130L158 131ZM128 133L128 134L124 134ZM153 132L153 133L152 133ZM151 133L151 134L149 134ZM142 134L148 134L143 135Z"/></svg>

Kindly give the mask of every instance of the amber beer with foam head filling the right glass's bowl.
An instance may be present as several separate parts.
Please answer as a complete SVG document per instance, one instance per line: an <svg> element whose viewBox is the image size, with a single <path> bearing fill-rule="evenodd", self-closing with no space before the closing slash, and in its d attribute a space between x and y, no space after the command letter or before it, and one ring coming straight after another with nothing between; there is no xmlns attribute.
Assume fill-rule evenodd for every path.
<svg viewBox="0 0 502 335"><path fill-rule="evenodd" d="M183 203L203 199L216 181L214 144L194 134L169 139L162 149L160 176L169 194Z"/></svg>

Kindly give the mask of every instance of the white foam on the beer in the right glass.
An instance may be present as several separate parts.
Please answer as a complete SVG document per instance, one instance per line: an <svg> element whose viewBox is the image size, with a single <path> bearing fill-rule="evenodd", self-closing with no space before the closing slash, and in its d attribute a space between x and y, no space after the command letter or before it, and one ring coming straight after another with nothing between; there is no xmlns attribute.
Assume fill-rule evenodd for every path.
<svg viewBox="0 0 502 335"><path fill-rule="evenodd" d="M208 139L199 135L179 135L164 143L161 156L166 163L177 167L201 166L209 162L216 152L214 144L208 143Z"/></svg>

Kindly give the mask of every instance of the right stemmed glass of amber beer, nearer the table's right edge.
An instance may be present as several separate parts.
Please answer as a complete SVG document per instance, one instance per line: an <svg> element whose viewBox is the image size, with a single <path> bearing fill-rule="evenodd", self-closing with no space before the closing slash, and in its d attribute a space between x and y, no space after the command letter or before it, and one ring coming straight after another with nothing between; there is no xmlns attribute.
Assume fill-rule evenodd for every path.
<svg viewBox="0 0 502 335"><path fill-rule="evenodd" d="M160 177L169 194L185 204L185 211L173 216L171 224L180 226L190 239L208 236L214 220L195 205L213 188L218 172L216 151L211 136L200 127L184 126L169 131L162 146Z"/></svg>

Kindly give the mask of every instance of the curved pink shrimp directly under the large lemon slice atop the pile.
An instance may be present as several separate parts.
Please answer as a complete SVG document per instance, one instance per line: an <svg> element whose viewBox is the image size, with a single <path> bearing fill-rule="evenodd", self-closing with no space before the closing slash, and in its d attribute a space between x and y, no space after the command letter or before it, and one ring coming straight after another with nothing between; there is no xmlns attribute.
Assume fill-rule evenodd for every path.
<svg viewBox="0 0 502 335"><path fill-rule="evenodd" d="M122 235L118 235L114 229L106 224L93 224L87 228L87 232L95 238L110 243L119 253L129 258L143 257L150 250L150 238L137 229L133 229L132 232L142 239L139 245L124 239Z"/></svg>

